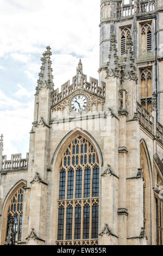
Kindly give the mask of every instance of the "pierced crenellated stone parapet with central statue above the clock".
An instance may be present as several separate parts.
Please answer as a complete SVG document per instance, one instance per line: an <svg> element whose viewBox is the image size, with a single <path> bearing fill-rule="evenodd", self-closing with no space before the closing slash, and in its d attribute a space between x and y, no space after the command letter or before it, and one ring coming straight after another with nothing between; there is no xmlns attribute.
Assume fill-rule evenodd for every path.
<svg viewBox="0 0 163 256"><path fill-rule="evenodd" d="M98 80L93 77L90 77L90 82L87 82L87 76L83 74L83 65L81 60L78 64L77 75L72 78L72 84L70 84L69 80L61 86L60 93L59 89L54 90L52 93L53 106L57 105L67 96L74 93L77 89L82 89L87 93L102 97L103 99L105 97L105 83L101 82L101 86L98 86Z"/></svg>

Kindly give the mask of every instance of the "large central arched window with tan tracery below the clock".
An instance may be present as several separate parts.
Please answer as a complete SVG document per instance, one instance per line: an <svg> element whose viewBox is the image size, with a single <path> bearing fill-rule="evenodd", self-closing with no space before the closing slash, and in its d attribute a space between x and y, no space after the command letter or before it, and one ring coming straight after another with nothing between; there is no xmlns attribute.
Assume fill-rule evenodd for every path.
<svg viewBox="0 0 163 256"><path fill-rule="evenodd" d="M59 169L57 245L97 245L99 160L92 143L77 136Z"/></svg>

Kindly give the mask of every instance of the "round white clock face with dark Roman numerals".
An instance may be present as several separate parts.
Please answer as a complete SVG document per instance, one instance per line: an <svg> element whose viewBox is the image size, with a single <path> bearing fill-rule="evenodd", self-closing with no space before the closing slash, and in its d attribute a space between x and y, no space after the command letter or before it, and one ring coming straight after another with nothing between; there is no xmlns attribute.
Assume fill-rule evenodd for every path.
<svg viewBox="0 0 163 256"><path fill-rule="evenodd" d="M87 108L89 101L84 94L77 94L70 102L70 108L75 113L80 113Z"/></svg>

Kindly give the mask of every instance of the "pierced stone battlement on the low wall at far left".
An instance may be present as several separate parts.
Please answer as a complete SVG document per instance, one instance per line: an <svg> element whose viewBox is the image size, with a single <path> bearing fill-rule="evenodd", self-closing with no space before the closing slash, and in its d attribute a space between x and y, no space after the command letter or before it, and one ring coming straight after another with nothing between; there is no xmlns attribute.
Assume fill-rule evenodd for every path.
<svg viewBox="0 0 163 256"><path fill-rule="evenodd" d="M22 159L22 154L11 155L11 160L7 160L7 156L2 156L2 169L1 172L27 170L28 169L29 153L26 159Z"/></svg>

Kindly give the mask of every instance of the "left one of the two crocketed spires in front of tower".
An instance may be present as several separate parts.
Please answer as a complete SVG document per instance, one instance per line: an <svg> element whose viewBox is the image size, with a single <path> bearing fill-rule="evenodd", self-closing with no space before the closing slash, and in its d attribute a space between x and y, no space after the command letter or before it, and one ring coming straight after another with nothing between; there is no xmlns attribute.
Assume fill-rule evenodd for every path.
<svg viewBox="0 0 163 256"><path fill-rule="evenodd" d="M110 54L109 54L109 62L108 70L106 71L106 78L110 76L118 77L120 75L120 67L118 64L118 56L117 56L117 40L115 34L111 34L110 38Z"/></svg>

